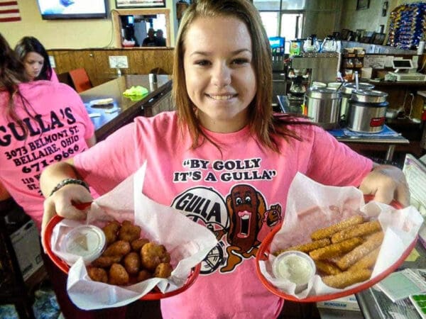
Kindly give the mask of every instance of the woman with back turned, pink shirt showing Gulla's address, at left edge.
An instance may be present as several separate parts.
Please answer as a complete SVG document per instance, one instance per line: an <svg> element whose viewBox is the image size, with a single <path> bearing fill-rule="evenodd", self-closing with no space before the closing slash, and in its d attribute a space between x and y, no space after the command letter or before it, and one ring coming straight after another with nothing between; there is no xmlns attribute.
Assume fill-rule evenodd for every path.
<svg viewBox="0 0 426 319"><path fill-rule="evenodd" d="M0 34L0 200L11 196L40 229L42 169L94 143L94 125L80 96L59 82L28 82L22 62ZM98 318L98 311L72 304L67 276L42 255L65 318ZM124 318L124 313L121 308L114 316Z"/></svg>

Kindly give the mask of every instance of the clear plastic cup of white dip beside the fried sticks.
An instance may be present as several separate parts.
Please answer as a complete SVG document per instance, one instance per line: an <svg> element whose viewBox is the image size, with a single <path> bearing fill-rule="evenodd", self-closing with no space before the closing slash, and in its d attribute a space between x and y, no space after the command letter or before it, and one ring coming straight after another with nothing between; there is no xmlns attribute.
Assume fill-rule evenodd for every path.
<svg viewBox="0 0 426 319"><path fill-rule="evenodd" d="M295 293L307 288L315 275L314 260L305 252L289 250L279 254L273 261L272 272L277 279L288 279L296 284Z"/></svg>

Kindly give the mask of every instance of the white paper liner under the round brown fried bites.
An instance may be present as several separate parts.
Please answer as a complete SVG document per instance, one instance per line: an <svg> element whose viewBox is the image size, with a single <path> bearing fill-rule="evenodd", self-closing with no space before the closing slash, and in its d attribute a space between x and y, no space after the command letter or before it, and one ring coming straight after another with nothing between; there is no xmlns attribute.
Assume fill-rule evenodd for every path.
<svg viewBox="0 0 426 319"><path fill-rule="evenodd" d="M92 203L87 220L62 220L55 225L51 247L58 257L67 259L59 247L61 238L70 229L85 223L102 227L107 220L112 219L120 222L134 220L136 225L141 226L143 237L165 245L170 253L172 275L169 279L153 278L131 286L114 286L89 279L80 257L70 267L67 279L70 299L79 308L92 310L125 306L145 296L155 286L163 293L179 289L187 281L192 267L199 264L217 245L216 237L210 230L194 223L175 208L155 203L142 194L145 172L146 163L115 189L97 198Z"/></svg>

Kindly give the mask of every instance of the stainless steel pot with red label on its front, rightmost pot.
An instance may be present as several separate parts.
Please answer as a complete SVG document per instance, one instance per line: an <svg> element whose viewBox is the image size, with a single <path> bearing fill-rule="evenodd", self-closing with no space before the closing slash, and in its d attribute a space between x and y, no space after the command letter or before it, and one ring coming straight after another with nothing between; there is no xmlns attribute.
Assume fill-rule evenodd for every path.
<svg viewBox="0 0 426 319"><path fill-rule="evenodd" d="M359 133L379 133L386 118L388 94L381 91L355 90L349 102L347 128Z"/></svg>

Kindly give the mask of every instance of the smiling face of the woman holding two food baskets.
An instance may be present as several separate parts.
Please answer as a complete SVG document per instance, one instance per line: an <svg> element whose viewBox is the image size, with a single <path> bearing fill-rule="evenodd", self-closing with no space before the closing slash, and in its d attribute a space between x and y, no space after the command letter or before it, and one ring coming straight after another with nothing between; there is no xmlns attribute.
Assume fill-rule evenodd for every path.
<svg viewBox="0 0 426 319"><path fill-rule="evenodd" d="M256 95L249 30L238 18L197 18L184 39L187 94L208 130L229 133L247 124Z"/></svg>

